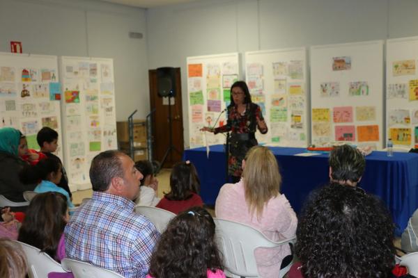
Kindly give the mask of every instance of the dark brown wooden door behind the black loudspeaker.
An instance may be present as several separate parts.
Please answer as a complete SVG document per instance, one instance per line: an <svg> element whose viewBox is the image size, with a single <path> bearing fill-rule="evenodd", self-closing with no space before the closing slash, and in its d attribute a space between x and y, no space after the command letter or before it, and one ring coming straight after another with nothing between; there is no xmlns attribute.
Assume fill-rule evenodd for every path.
<svg viewBox="0 0 418 278"><path fill-rule="evenodd" d="M163 99L157 91L157 70L149 70L150 106L153 113L153 160L162 163L164 154L169 149L169 105L168 98ZM174 102L174 104L173 104ZM171 134L173 147L162 167L172 167L181 161L184 151L183 112L181 104L180 67L176 67L176 97L171 97Z"/></svg>

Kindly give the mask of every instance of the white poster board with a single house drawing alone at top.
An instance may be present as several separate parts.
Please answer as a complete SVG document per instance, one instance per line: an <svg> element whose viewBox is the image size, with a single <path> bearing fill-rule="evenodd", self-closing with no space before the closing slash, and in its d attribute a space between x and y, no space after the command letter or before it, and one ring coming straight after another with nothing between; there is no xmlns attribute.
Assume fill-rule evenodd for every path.
<svg viewBox="0 0 418 278"><path fill-rule="evenodd" d="M311 47L311 138L382 149L383 41Z"/></svg>

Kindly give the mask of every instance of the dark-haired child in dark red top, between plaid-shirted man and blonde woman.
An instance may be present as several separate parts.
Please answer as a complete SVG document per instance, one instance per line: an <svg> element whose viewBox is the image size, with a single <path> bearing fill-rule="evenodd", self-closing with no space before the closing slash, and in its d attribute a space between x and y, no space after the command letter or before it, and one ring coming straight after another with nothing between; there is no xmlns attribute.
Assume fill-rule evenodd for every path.
<svg viewBox="0 0 418 278"><path fill-rule="evenodd" d="M196 168L190 161L176 163L170 176L170 192L164 193L164 198L157 204L157 208L180 213L192 206L203 206L198 195L200 181Z"/></svg>

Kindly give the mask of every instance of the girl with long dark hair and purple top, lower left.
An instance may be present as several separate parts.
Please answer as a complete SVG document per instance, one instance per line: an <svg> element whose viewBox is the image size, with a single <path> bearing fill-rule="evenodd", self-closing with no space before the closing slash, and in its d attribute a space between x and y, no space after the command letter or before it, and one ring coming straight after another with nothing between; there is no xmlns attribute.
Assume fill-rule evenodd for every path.
<svg viewBox="0 0 418 278"><path fill-rule="evenodd" d="M33 197L17 240L37 247L54 260L65 258L64 228L70 220L67 198L61 193L47 192ZM71 272L51 272L48 278L72 277Z"/></svg>

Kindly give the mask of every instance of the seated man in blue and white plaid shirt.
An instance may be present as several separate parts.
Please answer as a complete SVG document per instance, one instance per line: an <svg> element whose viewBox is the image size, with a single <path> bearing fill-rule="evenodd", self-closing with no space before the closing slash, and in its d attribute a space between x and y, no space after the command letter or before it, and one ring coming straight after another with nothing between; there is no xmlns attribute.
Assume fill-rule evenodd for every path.
<svg viewBox="0 0 418 278"><path fill-rule="evenodd" d="M93 158L90 179L93 197L65 227L65 253L124 277L146 277L150 256L160 234L134 212L142 174L134 161L118 151Z"/></svg>

